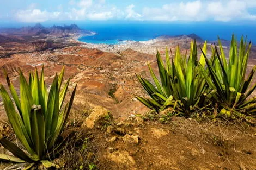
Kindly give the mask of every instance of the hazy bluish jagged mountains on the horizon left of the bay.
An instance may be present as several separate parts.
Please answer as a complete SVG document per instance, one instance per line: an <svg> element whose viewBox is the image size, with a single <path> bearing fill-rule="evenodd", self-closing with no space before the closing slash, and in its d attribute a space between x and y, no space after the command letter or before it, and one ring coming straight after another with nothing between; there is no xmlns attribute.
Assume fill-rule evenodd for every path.
<svg viewBox="0 0 256 170"><path fill-rule="evenodd" d="M37 23L34 27L22 27L22 28L2 28L0 29L0 35L2 36L34 36L34 37L44 37L44 36L57 36L57 37L69 37L76 35L91 35L95 34L88 30L79 28L76 24L71 24L70 26L53 26L44 27L42 24Z"/></svg>

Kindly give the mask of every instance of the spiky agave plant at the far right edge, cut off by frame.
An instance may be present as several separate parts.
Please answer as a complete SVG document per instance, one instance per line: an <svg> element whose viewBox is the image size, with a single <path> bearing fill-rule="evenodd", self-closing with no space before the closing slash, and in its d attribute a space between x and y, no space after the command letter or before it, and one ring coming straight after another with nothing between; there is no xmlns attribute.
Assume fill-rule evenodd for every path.
<svg viewBox="0 0 256 170"><path fill-rule="evenodd" d="M256 88L256 84L252 87L250 86L256 66L253 67L248 78L245 79L249 52L252 46L251 42L247 45L242 36L238 46L233 35L229 51L229 62L225 57L220 39L218 39L218 46L220 53L215 46L214 62L209 61L203 52L208 65L208 70L204 72L204 76L212 89L212 96L224 108L222 112L225 112L225 109L231 111L246 110L248 113L255 112L256 98L246 100Z"/></svg>

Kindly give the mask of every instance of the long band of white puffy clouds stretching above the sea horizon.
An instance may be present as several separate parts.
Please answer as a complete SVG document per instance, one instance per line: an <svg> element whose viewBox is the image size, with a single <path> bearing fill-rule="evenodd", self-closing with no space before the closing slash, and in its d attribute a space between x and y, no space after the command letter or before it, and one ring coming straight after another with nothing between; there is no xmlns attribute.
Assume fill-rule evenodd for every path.
<svg viewBox="0 0 256 170"><path fill-rule="evenodd" d="M22 22L44 22L47 20L156 20L156 21L236 21L256 20L249 9L256 8L252 0L184 0L164 4L160 7L136 8L130 4L117 8L105 0L70 0L55 11L40 9L31 4L27 9L16 12Z"/></svg>

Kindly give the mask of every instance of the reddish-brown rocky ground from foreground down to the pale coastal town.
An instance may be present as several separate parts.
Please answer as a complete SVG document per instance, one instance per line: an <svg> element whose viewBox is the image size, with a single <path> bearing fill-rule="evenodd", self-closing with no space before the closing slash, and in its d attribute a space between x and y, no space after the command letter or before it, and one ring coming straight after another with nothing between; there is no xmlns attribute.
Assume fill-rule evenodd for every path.
<svg viewBox="0 0 256 170"><path fill-rule="evenodd" d="M88 152L82 154L80 150L77 156L81 158L72 158L81 159L78 163L83 162L84 169L89 166L88 160L97 169L256 169L255 127L211 121L199 123L178 117L162 124L134 117L149 112L134 97L135 94L146 96L135 73L149 77L147 62L157 72L156 49L163 57L166 47L174 52L178 44L181 51L186 52L191 40L191 37L179 36L121 45L92 45L65 38L65 45L54 48L57 43L53 43L53 48L47 49L30 46L30 42L8 42L8 46L0 48L0 53L9 54L0 58L0 67L7 70L19 90L19 68L28 75L35 66L44 65L45 79L50 84L54 73L65 66L65 78L71 77L70 90L78 82L68 130L86 131L83 137L89 138ZM202 43L199 41L198 46ZM225 49L228 51L228 47ZM252 49L248 71L256 64L255 49ZM7 85L2 71L0 82ZM108 111L113 119L106 117ZM107 118L103 124L96 121L101 114ZM0 119L0 131L8 134L11 130L4 123L7 118L2 102ZM70 152L68 148L67 152ZM68 162L74 164L70 160L65 167L71 166ZM59 163L64 166L62 157Z"/></svg>

